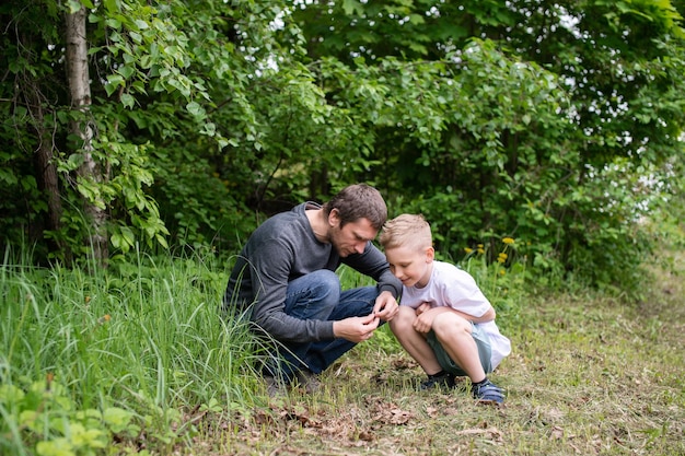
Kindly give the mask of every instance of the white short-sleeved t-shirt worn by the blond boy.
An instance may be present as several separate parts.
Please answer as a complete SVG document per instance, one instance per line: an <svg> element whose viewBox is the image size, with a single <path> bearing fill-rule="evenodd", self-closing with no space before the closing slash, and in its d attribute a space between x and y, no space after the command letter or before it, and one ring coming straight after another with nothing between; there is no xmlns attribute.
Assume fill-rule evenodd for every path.
<svg viewBox="0 0 685 456"><path fill-rule="evenodd" d="M433 271L428 284L423 288L404 287L402 305L417 308L422 303L431 307L449 306L474 317L483 316L490 308L474 278L456 266L433 261ZM504 356L511 353L511 341L499 332L495 321L477 324L490 337L492 369L497 367Z"/></svg>

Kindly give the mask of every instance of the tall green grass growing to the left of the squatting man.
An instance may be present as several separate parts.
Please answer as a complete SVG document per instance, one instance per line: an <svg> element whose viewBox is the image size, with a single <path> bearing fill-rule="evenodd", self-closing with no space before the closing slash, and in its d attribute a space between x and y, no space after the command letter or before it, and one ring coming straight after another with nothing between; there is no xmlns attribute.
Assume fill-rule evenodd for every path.
<svg viewBox="0 0 685 456"><path fill-rule="evenodd" d="M151 258L106 271L0 266L0 454L162 452L184 413L256 400L259 343L224 318L212 258ZM144 443L141 443L144 442Z"/></svg>

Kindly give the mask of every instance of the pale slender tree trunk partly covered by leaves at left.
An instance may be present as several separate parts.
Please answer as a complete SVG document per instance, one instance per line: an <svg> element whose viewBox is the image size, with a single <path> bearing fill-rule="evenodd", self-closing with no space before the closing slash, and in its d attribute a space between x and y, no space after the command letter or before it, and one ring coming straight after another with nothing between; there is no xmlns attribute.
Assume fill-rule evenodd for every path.
<svg viewBox="0 0 685 456"><path fill-rule="evenodd" d="M78 169L80 180L103 182L102 169L93 157L93 127L90 122L91 85L88 69L88 43L85 40L86 10L81 8L67 14L67 80L71 95L71 107L81 113L71 125L72 133L81 138L83 164ZM100 204L97 204L100 202ZM101 266L106 265L108 239L105 222L107 214L102 201L84 200L86 219L92 223L89 235L92 255Z"/></svg>

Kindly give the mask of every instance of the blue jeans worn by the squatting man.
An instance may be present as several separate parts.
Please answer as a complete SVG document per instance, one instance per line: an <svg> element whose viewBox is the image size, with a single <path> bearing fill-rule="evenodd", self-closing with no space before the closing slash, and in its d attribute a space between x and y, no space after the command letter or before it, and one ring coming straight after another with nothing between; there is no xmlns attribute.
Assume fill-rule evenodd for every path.
<svg viewBox="0 0 685 456"><path fill-rule="evenodd" d="M361 317L371 314L376 296L375 287L341 291L338 276L324 269L288 283L286 313L301 319L333 321ZM325 371L355 346L342 338L280 343L265 367L271 375L289 382L302 369L316 374Z"/></svg>

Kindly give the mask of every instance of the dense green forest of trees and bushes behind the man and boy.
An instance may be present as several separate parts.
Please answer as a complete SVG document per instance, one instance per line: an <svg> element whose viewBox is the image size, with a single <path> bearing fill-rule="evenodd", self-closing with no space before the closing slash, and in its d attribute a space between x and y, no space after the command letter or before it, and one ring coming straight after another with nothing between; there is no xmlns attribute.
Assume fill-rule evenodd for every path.
<svg viewBox="0 0 685 456"><path fill-rule="evenodd" d="M676 0L3 2L4 271L53 277L49 301L65 270L118 274L102 279L113 290L160 256L230 267L266 217L365 182L391 217L425 214L442 258L639 302L646 258L683 243L683 12ZM4 331L3 382L16 379L20 327Z"/></svg>

